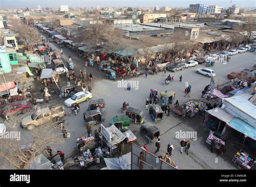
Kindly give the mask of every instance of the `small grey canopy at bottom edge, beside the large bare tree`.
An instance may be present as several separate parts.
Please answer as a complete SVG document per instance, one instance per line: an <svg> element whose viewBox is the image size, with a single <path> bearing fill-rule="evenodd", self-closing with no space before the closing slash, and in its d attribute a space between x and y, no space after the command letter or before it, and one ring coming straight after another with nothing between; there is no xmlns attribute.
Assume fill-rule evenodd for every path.
<svg viewBox="0 0 256 187"><path fill-rule="evenodd" d="M29 163L29 169L51 169L51 162L41 154L32 159Z"/></svg>

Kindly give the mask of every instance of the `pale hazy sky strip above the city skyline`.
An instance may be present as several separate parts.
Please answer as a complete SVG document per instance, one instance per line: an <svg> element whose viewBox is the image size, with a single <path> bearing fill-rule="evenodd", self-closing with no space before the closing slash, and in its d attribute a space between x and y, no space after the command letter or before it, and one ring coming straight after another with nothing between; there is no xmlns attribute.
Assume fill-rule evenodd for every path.
<svg viewBox="0 0 256 187"><path fill-rule="evenodd" d="M252 7L255 5L255 0L232 0L232 4L240 7ZM208 4L227 7L230 5L230 0L0 0L0 8L36 8L38 4L42 8L51 7L57 8L60 4L69 5L73 8L83 7L100 7L105 6L135 6L135 7L150 7L150 6L170 6L173 7L188 7L190 4Z"/></svg>

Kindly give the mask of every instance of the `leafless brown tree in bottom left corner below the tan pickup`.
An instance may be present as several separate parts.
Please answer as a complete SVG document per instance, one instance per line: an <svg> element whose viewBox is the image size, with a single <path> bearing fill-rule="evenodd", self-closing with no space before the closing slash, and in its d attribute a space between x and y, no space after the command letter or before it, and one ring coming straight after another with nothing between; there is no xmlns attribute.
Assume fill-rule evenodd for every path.
<svg viewBox="0 0 256 187"><path fill-rule="evenodd" d="M32 111L24 115L31 114ZM23 118L22 116L21 118ZM21 133L21 118L10 115L5 121L9 134ZM56 123L50 122L36 127L32 131L22 131L21 139L10 137L0 141L0 160L2 169L29 169L30 162L42 154L46 146L62 145L64 139Z"/></svg>

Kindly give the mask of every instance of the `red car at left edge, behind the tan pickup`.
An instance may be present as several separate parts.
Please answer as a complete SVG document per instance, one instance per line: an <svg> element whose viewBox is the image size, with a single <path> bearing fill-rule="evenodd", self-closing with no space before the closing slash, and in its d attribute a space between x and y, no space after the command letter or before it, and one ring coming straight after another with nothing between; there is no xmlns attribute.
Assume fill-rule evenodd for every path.
<svg viewBox="0 0 256 187"><path fill-rule="evenodd" d="M26 113L29 109L31 109L32 106L30 102L16 102L16 103L11 103L8 106L5 106L2 111L0 111L1 116L6 114L17 114L17 113ZM9 116L9 115L8 115Z"/></svg>

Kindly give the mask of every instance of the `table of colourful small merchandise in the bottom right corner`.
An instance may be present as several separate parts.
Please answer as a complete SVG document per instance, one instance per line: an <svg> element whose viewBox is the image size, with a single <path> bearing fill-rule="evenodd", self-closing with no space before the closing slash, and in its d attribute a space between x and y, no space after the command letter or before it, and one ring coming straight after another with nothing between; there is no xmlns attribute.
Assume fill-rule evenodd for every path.
<svg viewBox="0 0 256 187"><path fill-rule="evenodd" d="M246 169L251 169L253 167L253 164L255 163L255 159L242 150L234 155L232 161L234 163L238 163L240 166Z"/></svg>

